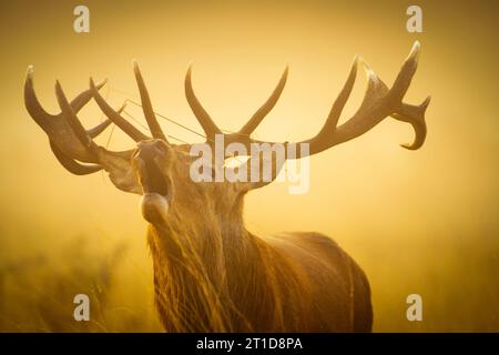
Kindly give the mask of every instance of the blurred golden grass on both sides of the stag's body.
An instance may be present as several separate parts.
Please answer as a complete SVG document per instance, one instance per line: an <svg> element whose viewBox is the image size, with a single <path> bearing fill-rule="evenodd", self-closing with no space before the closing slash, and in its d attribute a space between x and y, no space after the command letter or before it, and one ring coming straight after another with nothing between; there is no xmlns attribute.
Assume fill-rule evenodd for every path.
<svg viewBox="0 0 499 355"><path fill-rule="evenodd" d="M1 332L161 332L151 270L129 244L74 236L59 250L0 264ZM456 243L456 241L459 241ZM410 240L356 255L370 280L375 332L499 331L499 245ZM145 265L149 256L143 255ZM90 297L91 322L73 320L73 297ZM422 296L422 322L406 320L408 294Z"/></svg>

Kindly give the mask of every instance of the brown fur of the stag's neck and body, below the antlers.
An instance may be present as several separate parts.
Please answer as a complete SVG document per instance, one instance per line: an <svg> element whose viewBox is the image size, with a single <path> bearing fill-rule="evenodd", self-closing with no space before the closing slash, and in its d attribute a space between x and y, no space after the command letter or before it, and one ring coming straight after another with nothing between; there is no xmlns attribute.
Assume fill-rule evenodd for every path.
<svg viewBox="0 0 499 355"><path fill-rule="evenodd" d="M367 278L333 240L317 233L253 235L242 217L244 190L194 183L185 152L165 151L155 159L171 181L172 201L166 219L152 221L147 241L166 331L371 329Z"/></svg>

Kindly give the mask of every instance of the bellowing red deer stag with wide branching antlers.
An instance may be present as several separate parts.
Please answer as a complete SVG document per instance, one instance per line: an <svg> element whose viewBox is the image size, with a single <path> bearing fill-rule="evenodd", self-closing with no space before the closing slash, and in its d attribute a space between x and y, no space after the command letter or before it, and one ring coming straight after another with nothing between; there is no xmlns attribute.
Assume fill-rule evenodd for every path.
<svg viewBox="0 0 499 355"><path fill-rule="evenodd" d="M308 155L355 139L387 116L408 122L416 138L409 150L426 138L425 111L403 102L416 72L419 43L405 60L391 89L358 57L333 104L326 123L312 139ZM338 125L350 95L358 63L368 84L358 111ZM104 169L113 184L142 195L142 214L150 223L147 242L154 268L155 304L169 332L369 332L373 325L370 290L366 275L332 239L318 233L286 233L261 237L243 222L243 200L264 182L194 182L190 178L193 144L172 144L156 121L136 63L134 74L143 113L152 138L143 134L115 111L94 84L68 101L59 82L55 94L61 109L49 114L33 91L33 69L28 69L24 101L29 114L49 136L59 162L71 173L84 175ZM263 143L251 133L273 109L287 78L287 69L269 99L225 144L249 148ZM191 69L185 95L212 144L222 131L193 92ZM94 99L109 120L85 130L77 118ZM123 130L136 148L113 152L92 139L110 123ZM295 156L301 158L301 156ZM240 166L246 169L251 159ZM216 168L216 166L215 166ZM220 166L218 166L220 168ZM223 169L230 169L225 166ZM235 169L235 168L232 168ZM273 178L279 166L274 165Z"/></svg>

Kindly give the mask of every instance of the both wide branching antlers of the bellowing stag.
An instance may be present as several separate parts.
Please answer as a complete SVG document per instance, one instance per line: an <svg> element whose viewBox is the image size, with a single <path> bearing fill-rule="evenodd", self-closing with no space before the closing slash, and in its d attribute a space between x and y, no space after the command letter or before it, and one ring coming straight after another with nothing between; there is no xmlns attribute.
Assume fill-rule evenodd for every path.
<svg viewBox="0 0 499 355"><path fill-rule="evenodd" d="M375 74L375 72L363 59L360 59L359 57L355 57L347 81L339 95L335 100L324 126L314 138L291 144L308 143L309 149L308 153L306 154L313 155L336 144L340 144L355 139L373 129L385 118L393 116L396 120L410 123L416 132L414 142L411 144L401 144L401 146L409 150L419 149L424 144L426 139L425 111L429 104L430 98L428 97L419 105L413 105L403 102L404 95L406 94L417 69L419 50L420 44L416 41L409 55L405 60L404 65L401 67L391 89L388 89L388 87ZM359 62L364 65L367 73L367 90L357 112L349 120L338 126L339 116L355 83L357 67ZM253 140L251 138L251 133L254 132L257 125L276 104L286 83L287 72L288 69L286 67L272 95L238 132L224 134L225 144L237 142L245 145L247 150L251 150L252 143L274 144L274 142ZM151 130L152 136L162 139L167 142L155 118L151 104L151 99L149 97L145 83L136 62L134 62L134 73L141 95L144 116L147 121L147 125ZM192 89L191 73L192 70L190 67L185 77L185 95L195 116L197 118L204 132L206 133L207 142L213 143L215 134L222 134L222 131L216 126L212 118L208 115L206 110L202 106L198 99L194 94L194 90ZM124 108L115 111L108 104L108 102L99 93L99 89L101 89L103 85L104 82L95 84L93 80L90 79L90 90L80 93L73 101L69 102L60 83L57 82L55 94L61 108L61 113L57 115L49 114L43 110L37 99L33 90L33 68L29 67L24 85L24 102L30 115L48 134L50 146L53 153L67 170L74 174L82 175L94 173L101 169L104 169L110 173L111 180L119 189L129 192L141 193L141 187L139 185L139 182L136 181L135 174L133 173L130 163L130 158L133 151L129 150L123 152L111 152L102 146L99 146L92 140L98 134L100 134L111 122L115 123L134 141L150 139L147 135L143 134L141 131L134 128L123 116L121 116L121 112ZM91 130L85 130L81 122L78 120L77 113L81 110L81 108L83 108L83 105L85 105L90 101L92 97L95 99L95 102L109 118L109 120L102 122ZM297 152L295 156L286 158L299 159L304 156L305 155L302 154L302 150L299 150L299 152ZM90 165L81 164L78 161L90 163ZM273 165L274 168L272 176L275 178L282 166L282 162L279 164L273 162ZM246 164L241 166L241 169L251 170L251 162L248 161ZM261 185L263 184L251 184L247 186L247 189L259 187Z"/></svg>

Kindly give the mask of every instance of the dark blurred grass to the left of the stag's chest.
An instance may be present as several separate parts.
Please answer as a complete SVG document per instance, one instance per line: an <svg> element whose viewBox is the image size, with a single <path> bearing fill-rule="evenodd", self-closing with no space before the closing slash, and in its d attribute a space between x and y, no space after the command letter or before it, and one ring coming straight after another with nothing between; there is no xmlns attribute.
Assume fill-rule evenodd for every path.
<svg viewBox="0 0 499 355"><path fill-rule="evenodd" d="M99 241L78 236L57 252L3 261L0 332L161 331L152 278L130 260L128 244L102 251L91 243ZM73 318L80 293L90 298L89 322Z"/></svg>

